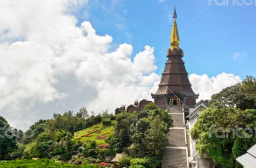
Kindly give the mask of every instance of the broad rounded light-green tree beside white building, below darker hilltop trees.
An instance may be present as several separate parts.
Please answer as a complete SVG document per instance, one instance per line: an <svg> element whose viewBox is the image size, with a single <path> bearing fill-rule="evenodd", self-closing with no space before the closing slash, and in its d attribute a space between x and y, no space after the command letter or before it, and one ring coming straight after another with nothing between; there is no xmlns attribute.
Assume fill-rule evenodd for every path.
<svg viewBox="0 0 256 168"><path fill-rule="evenodd" d="M220 167L239 167L236 158L256 143L246 131L254 130L255 122L255 109L209 108L199 116L191 137L198 141L196 150L202 157L212 158Z"/></svg>

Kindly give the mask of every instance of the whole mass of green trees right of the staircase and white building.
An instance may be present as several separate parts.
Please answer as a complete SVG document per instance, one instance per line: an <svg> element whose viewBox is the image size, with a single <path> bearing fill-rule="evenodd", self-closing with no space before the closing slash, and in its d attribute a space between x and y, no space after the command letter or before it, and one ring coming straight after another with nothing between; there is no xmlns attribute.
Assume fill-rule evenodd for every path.
<svg viewBox="0 0 256 168"><path fill-rule="evenodd" d="M256 144L256 78L247 76L209 101L191 130L196 150L215 167L242 167L236 158Z"/></svg>

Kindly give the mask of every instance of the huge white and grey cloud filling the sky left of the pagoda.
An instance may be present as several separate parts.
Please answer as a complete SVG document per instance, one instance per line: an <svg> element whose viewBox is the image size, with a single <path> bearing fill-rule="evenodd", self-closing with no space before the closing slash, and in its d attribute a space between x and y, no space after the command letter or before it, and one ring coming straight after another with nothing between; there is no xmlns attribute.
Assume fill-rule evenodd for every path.
<svg viewBox="0 0 256 168"><path fill-rule="evenodd" d="M0 10L0 115L13 127L82 106L100 113L150 99L159 80L153 47L134 59L127 43L109 52L112 37L88 21L77 26L72 15L86 0L15 2Z"/></svg>

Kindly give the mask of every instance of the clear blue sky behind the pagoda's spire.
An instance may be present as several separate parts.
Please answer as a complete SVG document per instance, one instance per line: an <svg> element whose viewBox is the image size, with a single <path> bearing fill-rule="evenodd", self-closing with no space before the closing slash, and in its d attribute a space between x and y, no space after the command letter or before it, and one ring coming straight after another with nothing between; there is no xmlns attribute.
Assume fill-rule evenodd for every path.
<svg viewBox="0 0 256 168"><path fill-rule="evenodd" d="M184 50L189 74L215 76L225 72L242 79L246 75L255 76L256 6L233 5L231 1L227 6L217 3L212 1L209 5L207 0L90 1L76 15L79 23L89 20L97 34L112 36L113 49L120 43L129 43L135 55L145 45L154 46L156 73L161 74L176 5L180 47Z"/></svg>

